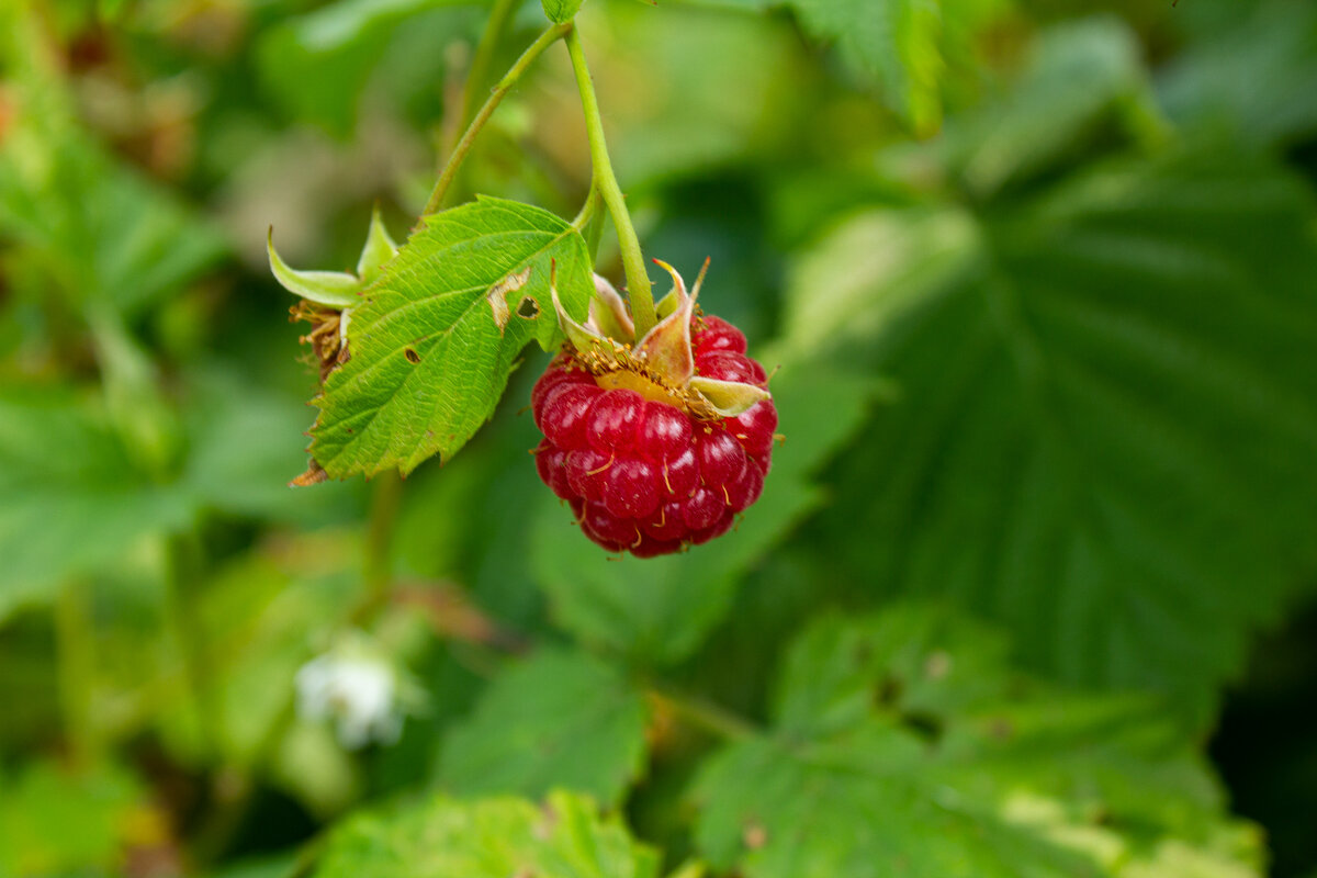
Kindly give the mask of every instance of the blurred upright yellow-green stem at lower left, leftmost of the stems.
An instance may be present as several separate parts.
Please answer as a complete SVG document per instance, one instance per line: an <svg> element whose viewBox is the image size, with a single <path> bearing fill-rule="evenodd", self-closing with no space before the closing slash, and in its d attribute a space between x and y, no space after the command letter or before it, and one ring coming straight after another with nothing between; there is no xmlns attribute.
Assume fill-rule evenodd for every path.
<svg viewBox="0 0 1317 878"><path fill-rule="evenodd" d="M91 621L87 583L66 582L55 600L55 642L59 662L59 706L75 765L88 766L100 756L92 699L96 674L96 631Z"/></svg>

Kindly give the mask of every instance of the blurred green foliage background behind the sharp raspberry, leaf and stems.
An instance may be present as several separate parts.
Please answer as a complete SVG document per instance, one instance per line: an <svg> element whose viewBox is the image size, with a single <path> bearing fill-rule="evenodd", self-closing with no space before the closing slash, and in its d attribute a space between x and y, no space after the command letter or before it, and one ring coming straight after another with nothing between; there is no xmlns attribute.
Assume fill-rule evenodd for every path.
<svg viewBox="0 0 1317 878"><path fill-rule="evenodd" d="M763 499L602 557L535 350L287 488L269 226L414 226L577 7L647 254L780 367ZM4 0L0 76L0 877L1317 869L1310 3ZM589 179L556 47L454 195Z"/></svg>

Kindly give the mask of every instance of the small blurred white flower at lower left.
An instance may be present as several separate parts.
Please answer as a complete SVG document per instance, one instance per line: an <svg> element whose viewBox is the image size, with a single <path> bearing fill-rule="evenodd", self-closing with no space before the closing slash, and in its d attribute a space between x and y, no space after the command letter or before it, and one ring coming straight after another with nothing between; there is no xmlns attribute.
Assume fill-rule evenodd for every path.
<svg viewBox="0 0 1317 878"><path fill-rule="evenodd" d="M298 713L333 720L338 742L357 750L371 741L392 744L403 727L398 673L360 644L344 644L298 670Z"/></svg>

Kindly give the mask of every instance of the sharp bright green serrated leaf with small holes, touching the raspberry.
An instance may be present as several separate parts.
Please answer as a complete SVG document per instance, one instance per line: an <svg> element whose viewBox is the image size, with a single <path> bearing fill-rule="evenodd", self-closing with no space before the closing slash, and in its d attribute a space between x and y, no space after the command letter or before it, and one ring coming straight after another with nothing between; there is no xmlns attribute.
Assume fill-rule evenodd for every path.
<svg viewBox="0 0 1317 878"><path fill-rule="evenodd" d="M560 340L551 263L568 311L581 319L589 308L585 241L552 213L483 197L424 222L353 311L350 359L316 400L309 450L335 478L406 474L456 453L494 412L522 349ZM523 308L499 326L487 296L527 270L518 294L533 299L535 316Z"/></svg>

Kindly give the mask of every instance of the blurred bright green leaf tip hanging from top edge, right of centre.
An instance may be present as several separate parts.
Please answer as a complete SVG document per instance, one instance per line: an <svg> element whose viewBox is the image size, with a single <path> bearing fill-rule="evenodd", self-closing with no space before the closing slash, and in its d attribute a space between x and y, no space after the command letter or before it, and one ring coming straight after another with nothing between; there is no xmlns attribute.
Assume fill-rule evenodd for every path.
<svg viewBox="0 0 1317 878"><path fill-rule="evenodd" d="M805 28L836 43L843 59L878 83L917 132L942 122L940 0L790 0Z"/></svg>

